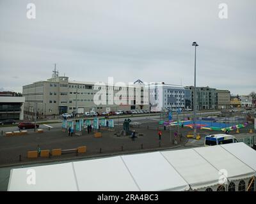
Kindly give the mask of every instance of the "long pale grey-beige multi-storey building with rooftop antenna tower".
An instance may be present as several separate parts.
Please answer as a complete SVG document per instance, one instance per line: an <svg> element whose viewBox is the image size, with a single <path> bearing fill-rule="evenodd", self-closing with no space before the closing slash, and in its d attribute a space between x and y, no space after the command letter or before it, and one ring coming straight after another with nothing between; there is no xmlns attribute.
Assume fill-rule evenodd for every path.
<svg viewBox="0 0 256 204"><path fill-rule="evenodd" d="M100 85L99 82L70 81L68 77L59 77L54 71L48 80L23 86L24 113L32 115L36 110L39 116L44 116L90 111L149 110L148 92L143 87L136 84ZM95 97L99 94L99 97ZM120 103L116 104L115 99Z"/></svg>

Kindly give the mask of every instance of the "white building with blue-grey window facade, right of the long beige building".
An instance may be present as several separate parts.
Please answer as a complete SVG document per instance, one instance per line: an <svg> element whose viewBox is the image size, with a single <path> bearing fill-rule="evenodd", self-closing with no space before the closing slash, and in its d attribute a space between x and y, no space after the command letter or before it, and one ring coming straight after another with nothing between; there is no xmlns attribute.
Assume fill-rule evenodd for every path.
<svg viewBox="0 0 256 204"><path fill-rule="evenodd" d="M151 83L149 92L152 112L185 108L185 89L180 85Z"/></svg>

